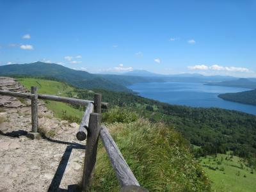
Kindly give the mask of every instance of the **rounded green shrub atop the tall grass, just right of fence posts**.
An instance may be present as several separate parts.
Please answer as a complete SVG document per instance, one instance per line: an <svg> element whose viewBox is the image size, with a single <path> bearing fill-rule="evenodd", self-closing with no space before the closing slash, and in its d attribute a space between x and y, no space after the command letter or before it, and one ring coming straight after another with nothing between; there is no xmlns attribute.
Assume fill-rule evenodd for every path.
<svg viewBox="0 0 256 192"><path fill-rule="evenodd" d="M112 108L102 114L102 121L108 124L111 123L131 123L138 119L138 115L129 109Z"/></svg>

